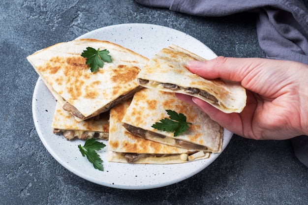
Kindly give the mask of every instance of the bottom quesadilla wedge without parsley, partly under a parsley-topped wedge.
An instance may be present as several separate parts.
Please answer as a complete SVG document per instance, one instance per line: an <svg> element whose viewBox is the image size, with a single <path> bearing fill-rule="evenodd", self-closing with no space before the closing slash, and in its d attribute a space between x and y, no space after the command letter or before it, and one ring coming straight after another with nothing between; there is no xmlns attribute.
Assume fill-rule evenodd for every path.
<svg viewBox="0 0 308 205"><path fill-rule="evenodd" d="M110 110L110 129L107 148L109 162L133 164L175 164L205 159L209 152L168 146L128 133L121 120L131 100Z"/></svg>

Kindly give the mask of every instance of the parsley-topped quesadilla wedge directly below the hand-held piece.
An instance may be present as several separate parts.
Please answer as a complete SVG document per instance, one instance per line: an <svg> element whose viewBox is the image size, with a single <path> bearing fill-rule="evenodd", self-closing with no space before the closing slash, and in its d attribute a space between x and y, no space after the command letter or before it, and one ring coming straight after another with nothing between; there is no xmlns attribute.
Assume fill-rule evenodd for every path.
<svg viewBox="0 0 308 205"><path fill-rule="evenodd" d="M157 130L152 125L168 117L166 110L182 113L188 129L174 137L171 131ZM193 150L220 152L223 128L195 106L179 100L174 93L144 88L135 93L124 117L123 126L133 135L158 143Z"/></svg>

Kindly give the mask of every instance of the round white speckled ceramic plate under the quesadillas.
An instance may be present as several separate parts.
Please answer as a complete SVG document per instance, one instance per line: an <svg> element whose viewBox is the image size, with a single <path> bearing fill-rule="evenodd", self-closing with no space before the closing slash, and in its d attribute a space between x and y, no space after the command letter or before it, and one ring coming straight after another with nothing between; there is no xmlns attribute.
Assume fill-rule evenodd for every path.
<svg viewBox="0 0 308 205"><path fill-rule="evenodd" d="M159 50L176 44L206 59L216 54L197 39L181 31L149 24L122 24L104 27L79 38L108 40L131 49L147 58ZM98 171L83 157L78 145L84 141L66 141L62 135L53 134L52 118L56 100L38 78L33 92L32 113L37 133L50 154L66 169L94 183L121 189L151 189L182 181L209 166L219 154L209 159L173 165L137 165L107 162L107 147L98 152L103 159L104 171ZM232 133L224 130L222 150L231 140ZM106 145L108 142L104 142Z"/></svg>

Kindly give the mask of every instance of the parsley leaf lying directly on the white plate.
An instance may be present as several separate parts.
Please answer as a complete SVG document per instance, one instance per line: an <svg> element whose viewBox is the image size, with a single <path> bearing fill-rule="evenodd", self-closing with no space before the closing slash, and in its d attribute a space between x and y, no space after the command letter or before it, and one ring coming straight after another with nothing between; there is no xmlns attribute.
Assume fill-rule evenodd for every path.
<svg viewBox="0 0 308 205"><path fill-rule="evenodd" d="M86 140L85 145L81 146L78 145L78 148L82 154L82 156L86 156L89 162L93 164L93 167L97 170L104 171L101 158L96 153L95 150L100 150L101 148L105 147L104 143L97 142L95 138L91 138Z"/></svg>

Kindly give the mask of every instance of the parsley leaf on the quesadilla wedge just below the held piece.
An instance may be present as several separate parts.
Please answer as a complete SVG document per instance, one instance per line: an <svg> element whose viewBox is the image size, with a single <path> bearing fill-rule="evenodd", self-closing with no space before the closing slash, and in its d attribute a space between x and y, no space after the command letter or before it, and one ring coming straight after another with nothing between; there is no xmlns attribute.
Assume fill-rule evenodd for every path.
<svg viewBox="0 0 308 205"><path fill-rule="evenodd" d="M165 117L164 119L160 119L160 122L156 122L152 125L153 128L163 131L174 132L174 137L179 136L181 133L185 132L188 129L188 124L190 122L186 122L186 116L182 113L178 114L172 110L166 110L169 118Z"/></svg>

